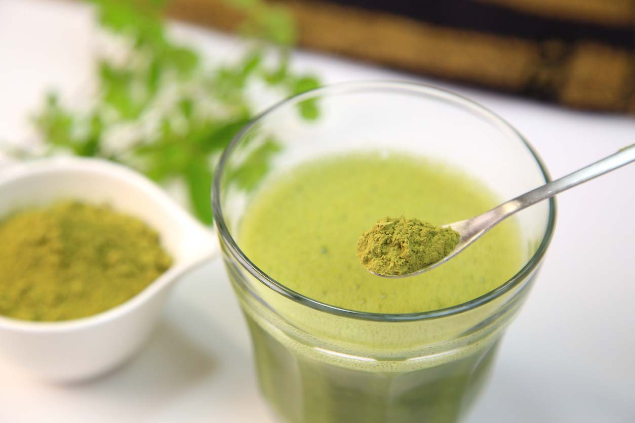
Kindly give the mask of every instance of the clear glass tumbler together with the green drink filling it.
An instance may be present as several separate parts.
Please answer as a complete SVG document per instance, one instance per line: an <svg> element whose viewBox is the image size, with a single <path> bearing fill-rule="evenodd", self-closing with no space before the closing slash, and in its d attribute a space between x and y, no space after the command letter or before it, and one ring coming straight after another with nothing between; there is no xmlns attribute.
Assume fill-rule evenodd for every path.
<svg viewBox="0 0 635 423"><path fill-rule="evenodd" d="M292 106L311 96L323 118L293 120ZM441 117L420 119L411 107L419 104ZM369 115L400 136L378 137L384 124ZM448 126L457 116L462 124ZM531 151L502 125L432 88L351 84L283 103L229 146L215 179L215 221L260 387L281 421L451 423L469 410L547 247L553 203L418 277L371 275L356 243L383 216L441 225L544 181ZM442 143L409 135L435 127ZM232 169L272 136L281 152L245 192ZM516 162L498 160L505 148ZM506 166L519 177L498 183Z"/></svg>

